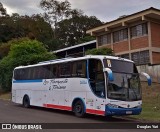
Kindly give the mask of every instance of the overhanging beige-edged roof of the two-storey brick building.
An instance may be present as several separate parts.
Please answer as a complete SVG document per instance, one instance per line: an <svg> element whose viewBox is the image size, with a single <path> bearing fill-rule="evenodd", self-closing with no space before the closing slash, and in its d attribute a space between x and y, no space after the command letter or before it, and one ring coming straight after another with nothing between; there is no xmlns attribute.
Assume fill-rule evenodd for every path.
<svg viewBox="0 0 160 132"><path fill-rule="evenodd" d="M148 9L142 10L140 12L136 12L131 15L123 15L116 20L106 22L105 24L89 29L87 33L94 35L94 33L102 32L102 31L109 31L110 28L115 28L119 26L127 26L127 24L135 22L135 21L160 21L160 10L150 7Z"/></svg>

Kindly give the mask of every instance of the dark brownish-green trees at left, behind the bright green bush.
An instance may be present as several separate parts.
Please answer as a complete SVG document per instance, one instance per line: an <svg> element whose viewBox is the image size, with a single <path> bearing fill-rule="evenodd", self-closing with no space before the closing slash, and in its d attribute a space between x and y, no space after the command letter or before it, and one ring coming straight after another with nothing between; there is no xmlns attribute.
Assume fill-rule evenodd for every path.
<svg viewBox="0 0 160 132"><path fill-rule="evenodd" d="M13 13L12 16L0 16L0 43L8 43L12 39L23 37L37 39L47 47L48 40L53 38L53 30L51 25L38 14L20 16Z"/></svg>

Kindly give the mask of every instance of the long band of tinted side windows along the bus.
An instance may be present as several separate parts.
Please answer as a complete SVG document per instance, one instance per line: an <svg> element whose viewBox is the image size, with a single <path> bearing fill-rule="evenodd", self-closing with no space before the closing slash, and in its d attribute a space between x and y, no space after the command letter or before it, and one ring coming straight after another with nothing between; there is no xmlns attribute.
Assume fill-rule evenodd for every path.
<svg viewBox="0 0 160 132"><path fill-rule="evenodd" d="M86 77L86 61L67 62L16 69L16 80Z"/></svg>

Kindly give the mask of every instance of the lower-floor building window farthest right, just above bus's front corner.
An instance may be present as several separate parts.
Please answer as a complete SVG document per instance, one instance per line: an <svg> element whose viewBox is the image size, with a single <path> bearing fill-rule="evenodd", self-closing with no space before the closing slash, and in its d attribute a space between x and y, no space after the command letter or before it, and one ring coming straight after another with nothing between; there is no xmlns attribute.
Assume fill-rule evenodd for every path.
<svg viewBox="0 0 160 132"><path fill-rule="evenodd" d="M148 50L132 53L131 57L136 65L148 64L150 62Z"/></svg>

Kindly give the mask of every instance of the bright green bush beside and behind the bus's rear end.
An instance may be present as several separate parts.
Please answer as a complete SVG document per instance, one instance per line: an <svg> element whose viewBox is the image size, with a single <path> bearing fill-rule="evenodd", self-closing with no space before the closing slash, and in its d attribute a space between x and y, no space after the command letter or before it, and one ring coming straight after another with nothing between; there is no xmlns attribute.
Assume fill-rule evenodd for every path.
<svg viewBox="0 0 160 132"><path fill-rule="evenodd" d="M56 58L47 52L37 40L20 39L12 41L8 56L0 61L0 85L4 91L11 89L13 69L20 65L35 64Z"/></svg>

